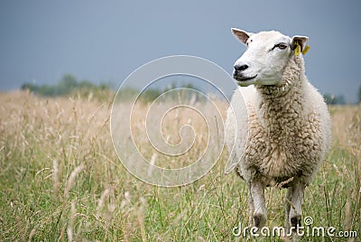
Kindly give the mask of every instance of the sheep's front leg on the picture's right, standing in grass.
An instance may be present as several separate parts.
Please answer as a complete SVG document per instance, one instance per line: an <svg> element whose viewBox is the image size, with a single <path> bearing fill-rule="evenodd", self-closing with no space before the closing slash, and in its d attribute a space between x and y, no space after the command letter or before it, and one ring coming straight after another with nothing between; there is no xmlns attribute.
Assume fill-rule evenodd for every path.
<svg viewBox="0 0 361 242"><path fill-rule="evenodd" d="M289 188L288 191L288 193L289 192L292 193L289 223L291 227L294 228L297 228L297 226L301 226L301 214L302 214L301 207L302 207L305 187L306 186L302 182L297 181L292 185L292 187Z"/></svg>

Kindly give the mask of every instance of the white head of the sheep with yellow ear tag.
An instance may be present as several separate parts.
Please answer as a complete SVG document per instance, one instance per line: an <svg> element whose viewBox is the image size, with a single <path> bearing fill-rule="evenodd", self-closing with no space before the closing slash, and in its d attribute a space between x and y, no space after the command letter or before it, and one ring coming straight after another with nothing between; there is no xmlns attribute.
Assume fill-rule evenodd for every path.
<svg viewBox="0 0 361 242"><path fill-rule="evenodd" d="M306 36L291 38L275 31L246 33L232 29L232 33L247 46L233 71L233 78L240 86L277 85L293 55L304 51L308 42Z"/></svg>

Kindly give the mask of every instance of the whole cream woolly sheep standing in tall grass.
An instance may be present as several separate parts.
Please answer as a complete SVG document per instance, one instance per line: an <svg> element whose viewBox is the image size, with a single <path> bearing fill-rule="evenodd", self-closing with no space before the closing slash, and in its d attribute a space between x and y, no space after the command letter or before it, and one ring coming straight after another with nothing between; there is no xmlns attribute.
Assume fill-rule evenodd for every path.
<svg viewBox="0 0 361 242"><path fill-rule="evenodd" d="M256 228L267 220L265 187L287 188L285 228L290 231L301 226L305 187L331 143L327 105L305 76L302 55L308 51L308 37L232 33L247 50L235 62L238 88L227 109L230 167L236 167L249 188L250 223Z"/></svg>

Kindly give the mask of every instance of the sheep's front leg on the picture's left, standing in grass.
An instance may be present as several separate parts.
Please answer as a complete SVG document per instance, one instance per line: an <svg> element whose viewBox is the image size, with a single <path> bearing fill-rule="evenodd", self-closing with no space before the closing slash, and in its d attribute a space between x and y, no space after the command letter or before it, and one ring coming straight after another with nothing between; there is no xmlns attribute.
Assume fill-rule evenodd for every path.
<svg viewBox="0 0 361 242"><path fill-rule="evenodd" d="M254 216L254 226L262 228L267 220L267 209L265 208L264 201L264 184L261 181L251 181L250 195L254 205L254 211L251 211Z"/></svg>

